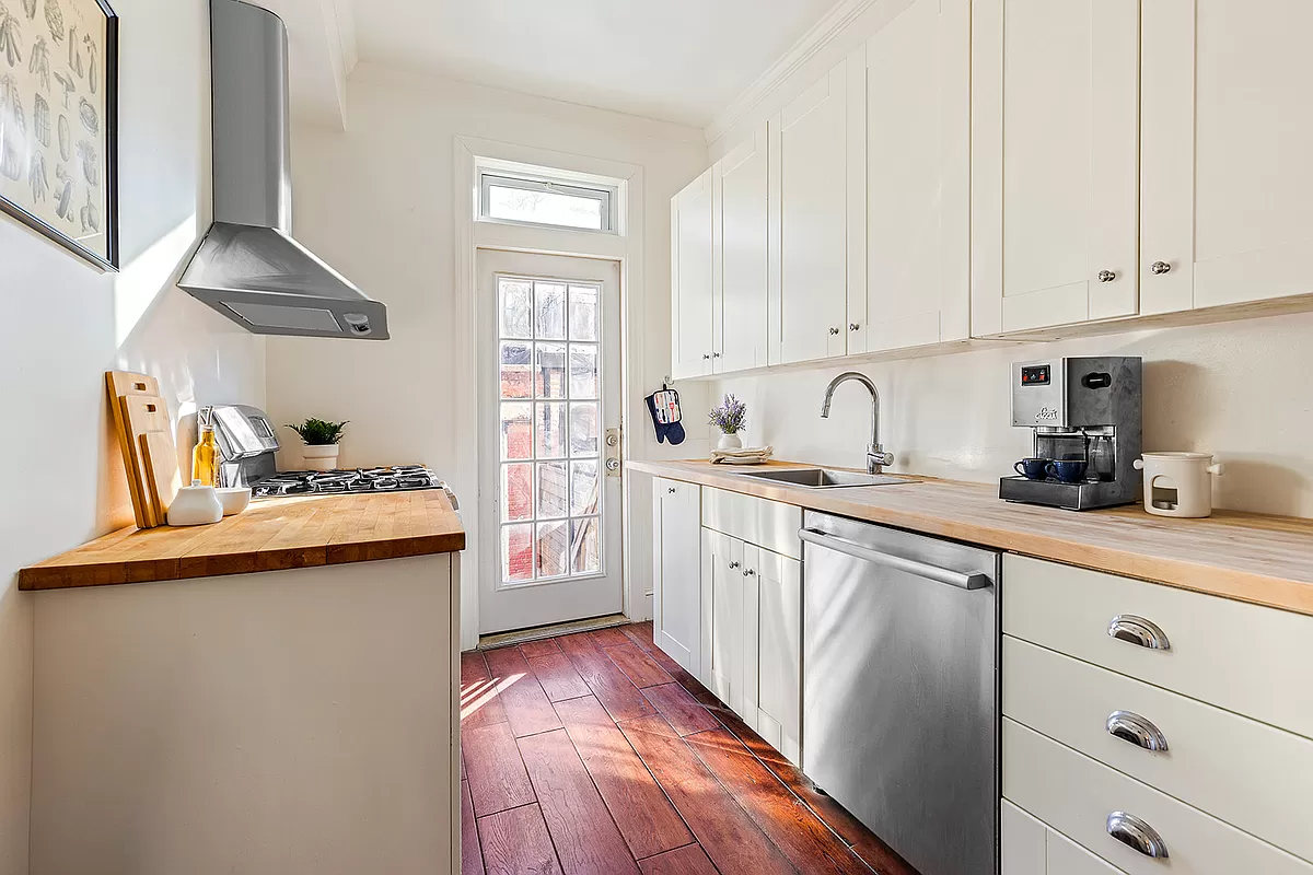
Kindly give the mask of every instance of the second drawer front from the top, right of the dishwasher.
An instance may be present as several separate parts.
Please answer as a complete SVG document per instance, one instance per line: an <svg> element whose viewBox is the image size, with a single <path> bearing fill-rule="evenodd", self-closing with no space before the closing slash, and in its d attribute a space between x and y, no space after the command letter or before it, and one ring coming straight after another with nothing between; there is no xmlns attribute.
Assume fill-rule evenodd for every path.
<svg viewBox="0 0 1313 875"><path fill-rule="evenodd" d="M1152 752L1108 732L1117 711L1166 740ZM1003 714L1304 859L1313 859L1313 741L1003 639ZM1132 718L1124 718L1134 720Z"/></svg>

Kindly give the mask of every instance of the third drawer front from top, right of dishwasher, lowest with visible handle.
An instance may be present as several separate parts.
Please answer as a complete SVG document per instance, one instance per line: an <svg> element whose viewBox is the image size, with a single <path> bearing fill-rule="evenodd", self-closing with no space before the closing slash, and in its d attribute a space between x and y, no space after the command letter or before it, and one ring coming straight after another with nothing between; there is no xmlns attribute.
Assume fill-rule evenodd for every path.
<svg viewBox="0 0 1313 875"><path fill-rule="evenodd" d="M1007 718L1003 795L1128 875L1313 875L1309 863ZM1113 812L1149 824L1169 858L1109 836Z"/></svg>

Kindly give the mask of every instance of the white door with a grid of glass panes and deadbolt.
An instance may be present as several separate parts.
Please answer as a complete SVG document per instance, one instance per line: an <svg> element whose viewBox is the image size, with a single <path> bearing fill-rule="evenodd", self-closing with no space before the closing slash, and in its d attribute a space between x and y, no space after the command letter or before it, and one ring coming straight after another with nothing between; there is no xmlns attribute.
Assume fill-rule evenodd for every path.
<svg viewBox="0 0 1313 875"><path fill-rule="evenodd" d="M620 613L620 266L488 249L478 266L479 631Z"/></svg>

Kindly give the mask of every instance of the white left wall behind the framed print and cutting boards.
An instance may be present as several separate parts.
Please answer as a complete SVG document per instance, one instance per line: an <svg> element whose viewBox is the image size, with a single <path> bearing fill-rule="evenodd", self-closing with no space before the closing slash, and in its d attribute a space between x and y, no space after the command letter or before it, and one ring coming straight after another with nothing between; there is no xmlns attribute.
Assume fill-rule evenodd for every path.
<svg viewBox="0 0 1313 875"><path fill-rule="evenodd" d="M0 875L29 872L34 623L14 575L133 519L105 370L159 376L175 417L264 396L263 341L173 286L209 215L207 4L114 8L122 273L101 274L0 216ZM35 748L39 757L39 737ZM39 858L30 866L43 871Z"/></svg>

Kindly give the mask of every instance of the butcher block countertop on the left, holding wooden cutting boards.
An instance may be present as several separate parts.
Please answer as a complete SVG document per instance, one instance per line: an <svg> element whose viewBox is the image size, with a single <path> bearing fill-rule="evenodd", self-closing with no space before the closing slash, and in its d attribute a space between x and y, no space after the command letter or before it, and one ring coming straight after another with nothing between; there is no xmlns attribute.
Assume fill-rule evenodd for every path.
<svg viewBox="0 0 1313 875"><path fill-rule="evenodd" d="M18 589L147 584L465 550L441 489L252 501L213 526L114 531L18 572Z"/></svg>

